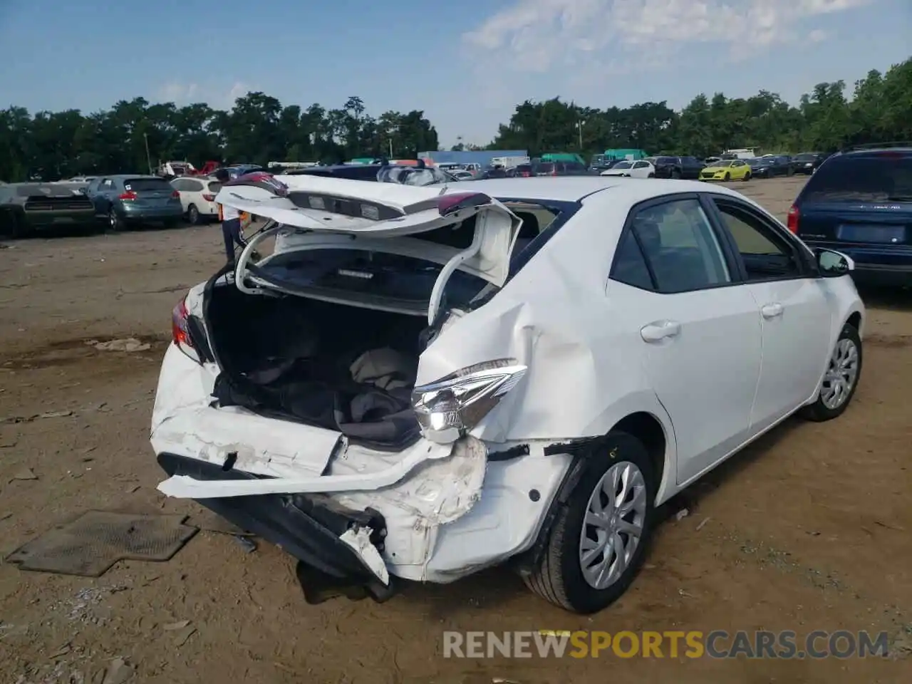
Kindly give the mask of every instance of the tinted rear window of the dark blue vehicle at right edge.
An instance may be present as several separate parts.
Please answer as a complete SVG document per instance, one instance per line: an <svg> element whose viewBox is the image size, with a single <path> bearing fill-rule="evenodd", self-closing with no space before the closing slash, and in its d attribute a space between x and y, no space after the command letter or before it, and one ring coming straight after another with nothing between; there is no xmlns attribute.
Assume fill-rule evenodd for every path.
<svg viewBox="0 0 912 684"><path fill-rule="evenodd" d="M826 161L811 176L805 202L912 202L912 155L884 152Z"/></svg>

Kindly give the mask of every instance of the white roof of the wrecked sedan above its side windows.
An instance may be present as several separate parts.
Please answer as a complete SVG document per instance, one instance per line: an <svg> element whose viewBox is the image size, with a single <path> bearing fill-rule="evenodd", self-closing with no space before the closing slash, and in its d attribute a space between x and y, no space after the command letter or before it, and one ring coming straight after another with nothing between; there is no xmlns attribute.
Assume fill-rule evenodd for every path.
<svg viewBox="0 0 912 684"><path fill-rule="evenodd" d="M447 192L484 192L491 197L521 198L530 201L581 202L596 192L617 192L622 201L642 202L650 197L679 192L716 192L740 196L729 188L707 186L701 181L617 176L554 176L548 178L492 178L482 181L449 183Z"/></svg>

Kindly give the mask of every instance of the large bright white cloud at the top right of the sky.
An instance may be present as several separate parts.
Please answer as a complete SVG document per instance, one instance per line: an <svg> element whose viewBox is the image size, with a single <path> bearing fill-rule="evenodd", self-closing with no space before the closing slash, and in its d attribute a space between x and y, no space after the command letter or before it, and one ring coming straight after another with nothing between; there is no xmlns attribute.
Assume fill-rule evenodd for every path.
<svg viewBox="0 0 912 684"><path fill-rule="evenodd" d="M766 47L801 36L820 41L824 31L807 26L815 16L875 1L517 0L462 38L476 51L496 55L487 60L516 71L544 73L592 61L611 47L621 48L621 57L608 59L609 67L629 71L644 54L654 68L652 53L672 57L688 44Z"/></svg>

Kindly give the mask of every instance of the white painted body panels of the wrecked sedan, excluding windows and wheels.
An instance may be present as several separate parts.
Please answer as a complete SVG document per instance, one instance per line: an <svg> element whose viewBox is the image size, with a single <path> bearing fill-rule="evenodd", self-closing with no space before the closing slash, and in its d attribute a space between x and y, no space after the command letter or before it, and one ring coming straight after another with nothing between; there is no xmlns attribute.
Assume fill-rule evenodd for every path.
<svg viewBox="0 0 912 684"><path fill-rule="evenodd" d="M383 513L389 533L380 554L383 567L368 557L364 539L345 541L361 548L366 565L384 582L387 574L450 582L528 549L570 467L565 443L604 436L633 414L647 414L661 427L666 447L656 503L663 503L813 401L841 327L854 314L864 316L847 275L679 295L610 280L617 239L637 202L710 192L759 206L699 181L499 179L441 189L303 176L281 180L293 192L306 182L309 192L350 192L403 208L436 198L441 190L530 202L582 200L570 223L491 301L453 313L421 354L419 385L495 358L527 367L519 384L452 444L420 439L404 451L374 451L340 440L334 430L266 419L246 409L212 408L218 368L169 347L153 410L154 450L216 464L236 453L235 468L275 479L202 482L176 476L160 490L199 499L316 492L354 510L374 508ZM440 218L426 210L421 220L398 225L365 230L356 222L327 231L319 214L291 208L285 198L270 198L259 189L226 187L219 201L277 221L295 217L295 226L314 229L285 234L282 250L333 244L333 233L420 250L409 233L438 225ZM482 211L506 222L496 230L508 235L512 246L514 214L499 202ZM503 243L498 245L503 250ZM438 263L448 258L432 254L433 246L425 245L426 258ZM507 257L501 252L496 260L505 264ZM492 275L492 282L503 283L502 274ZM202 285L192 288L185 302L194 316L202 316L202 290ZM782 316L763 316L770 303L782 305ZM644 341L640 329L656 321L678 323L679 335ZM809 323L813 331L806 329ZM527 451L496 458L514 447ZM541 493L537 501L531 490Z"/></svg>

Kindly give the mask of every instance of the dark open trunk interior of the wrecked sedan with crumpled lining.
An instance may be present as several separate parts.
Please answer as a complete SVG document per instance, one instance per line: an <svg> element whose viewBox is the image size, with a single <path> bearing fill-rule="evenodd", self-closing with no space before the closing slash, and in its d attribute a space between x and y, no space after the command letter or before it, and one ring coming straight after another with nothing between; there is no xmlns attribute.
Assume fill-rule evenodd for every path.
<svg viewBox="0 0 912 684"><path fill-rule="evenodd" d="M209 344L221 406L340 430L399 448L418 437L410 406L427 319L288 295L212 288Z"/></svg>

